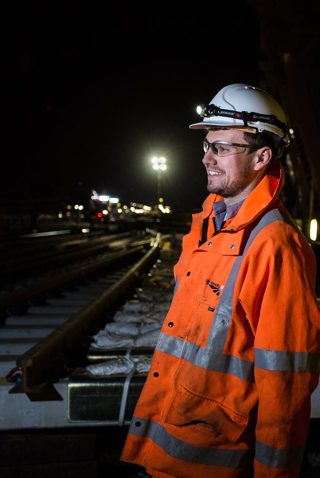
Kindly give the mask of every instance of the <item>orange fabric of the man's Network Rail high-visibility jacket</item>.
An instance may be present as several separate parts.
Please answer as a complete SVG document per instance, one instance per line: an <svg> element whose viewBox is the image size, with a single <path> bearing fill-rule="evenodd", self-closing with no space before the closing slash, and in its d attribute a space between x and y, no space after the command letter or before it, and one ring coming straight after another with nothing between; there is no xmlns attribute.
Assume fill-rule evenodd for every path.
<svg viewBox="0 0 320 478"><path fill-rule="evenodd" d="M277 197L282 185L283 169L275 161L236 216L199 248L202 220L221 198L210 194L202 213L192 217L174 266L178 287L161 330L165 343L181 344L181 353L163 351L158 343L121 455L156 478L298 477L296 456L303 452L319 378L320 313L315 257L297 228L277 220L256 235L235 278L225 330L220 321L223 350L209 342L225 284L254 221L273 209L288 215ZM182 344L204 351L210 367L191 363ZM256 364L259 354L270 359L270 367L268 360ZM238 362L252 364L254 379L218 370L221 355L235 370ZM273 365L274 356L283 370ZM287 357L296 369L286 365ZM306 357L315 361L310 370L299 368ZM134 427L140 422L143 432ZM255 457L254 448L260 450ZM236 462L242 452L251 457ZM224 454L234 454L234 460L215 460Z"/></svg>

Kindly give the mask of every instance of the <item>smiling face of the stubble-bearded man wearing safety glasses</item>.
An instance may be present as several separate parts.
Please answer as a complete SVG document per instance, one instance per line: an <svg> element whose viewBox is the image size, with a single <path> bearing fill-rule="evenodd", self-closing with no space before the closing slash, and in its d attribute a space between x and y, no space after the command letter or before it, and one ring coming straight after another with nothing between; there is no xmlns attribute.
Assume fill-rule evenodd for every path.
<svg viewBox="0 0 320 478"><path fill-rule="evenodd" d="M243 132L232 129L209 131L205 139L209 143L227 141L247 144ZM255 181L257 172L254 170L256 150L251 152L250 149L242 148L241 151L243 152L218 156L208 148L202 159L208 174L207 190L222 196L227 205L246 198L257 184Z"/></svg>

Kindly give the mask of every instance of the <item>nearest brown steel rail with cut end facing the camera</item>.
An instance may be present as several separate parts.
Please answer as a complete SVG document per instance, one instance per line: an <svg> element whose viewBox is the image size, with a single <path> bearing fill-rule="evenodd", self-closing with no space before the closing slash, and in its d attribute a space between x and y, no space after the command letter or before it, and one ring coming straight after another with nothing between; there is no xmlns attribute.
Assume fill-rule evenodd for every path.
<svg viewBox="0 0 320 478"><path fill-rule="evenodd" d="M20 371L21 379L9 393L26 393L30 400L62 399L52 383L52 379L56 379L57 369L68 367L75 347L83 344L89 330L92 330L101 320L105 321L106 311L119 301L134 282L138 281L141 272L150 266L159 253L160 244L159 236L143 257L120 280L21 355L16 360L16 369ZM123 257L127 252L120 254Z"/></svg>

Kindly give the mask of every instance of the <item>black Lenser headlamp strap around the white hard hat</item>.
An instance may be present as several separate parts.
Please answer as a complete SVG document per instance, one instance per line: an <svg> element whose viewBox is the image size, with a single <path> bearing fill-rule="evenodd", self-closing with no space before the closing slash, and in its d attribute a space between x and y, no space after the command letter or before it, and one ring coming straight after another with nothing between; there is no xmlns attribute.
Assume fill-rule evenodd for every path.
<svg viewBox="0 0 320 478"><path fill-rule="evenodd" d="M233 111L233 110L223 110L218 108L215 105L207 105L202 109L203 113L200 114L202 117L210 116L223 116L227 118L234 118L236 120L242 120L244 126L248 126L248 121L251 123L256 123L257 121L262 121L263 123L269 123L270 125L277 126L280 128L284 135L287 134L286 124L282 123L274 115L262 115L261 113L247 113L246 111Z"/></svg>

